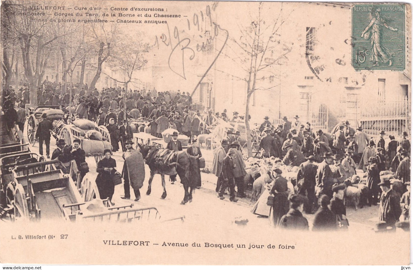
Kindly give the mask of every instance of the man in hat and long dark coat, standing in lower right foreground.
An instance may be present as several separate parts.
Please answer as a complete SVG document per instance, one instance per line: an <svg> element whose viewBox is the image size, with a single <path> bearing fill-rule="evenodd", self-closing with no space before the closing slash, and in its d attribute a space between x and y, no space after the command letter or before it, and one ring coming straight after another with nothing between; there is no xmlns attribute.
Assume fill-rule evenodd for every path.
<svg viewBox="0 0 413 270"><path fill-rule="evenodd" d="M400 195L392 190L390 180L383 178L378 184L382 190L380 195L379 221L385 221L387 226L396 227L394 224L399 221L401 215Z"/></svg>

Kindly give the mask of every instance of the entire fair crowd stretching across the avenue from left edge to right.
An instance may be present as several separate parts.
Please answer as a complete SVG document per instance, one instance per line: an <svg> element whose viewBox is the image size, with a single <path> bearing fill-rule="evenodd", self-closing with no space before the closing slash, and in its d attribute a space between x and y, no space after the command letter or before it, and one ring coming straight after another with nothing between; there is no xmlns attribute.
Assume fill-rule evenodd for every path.
<svg viewBox="0 0 413 270"><path fill-rule="evenodd" d="M69 86L70 87L70 86ZM119 151L119 142L123 156L133 151L133 129L130 125L132 118L144 117L149 124L136 127L138 132L147 132L152 136L162 137L162 132L168 128L178 132L172 134L168 148L171 151L181 151L182 146L177 140L178 133L187 135L191 147L188 154L198 159L202 157L197 146L197 136L209 132L208 127L216 124L219 119L223 121L242 120L237 112L232 118L228 117L226 110L223 113L215 113L208 110L202 116L199 110L192 110L192 98L187 92L157 92L152 90L130 90L106 88L102 91L90 90L88 86L71 87L72 97L66 93L61 95L62 85L44 82L38 88L39 105L62 106L72 105L75 108L62 106L66 112L74 110L74 119L90 118L98 125L104 125L110 134L112 151L105 150L104 156L97 166L96 183L101 197L109 197L112 200L114 193L113 181L109 181L116 174L116 162L111 157L112 152ZM68 96L69 95L69 96ZM126 99L126 102L124 100ZM25 104L29 102L28 87L21 87L14 91L12 87L2 91L2 111L8 117L9 128L14 123L23 130L27 111ZM85 104L85 106L81 106ZM19 108L16 110L15 108ZM90 108L95 114L90 113ZM125 119L125 110L127 116ZM250 116L249 116L250 117ZM50 158L50 132L52 123L46 115L39 122L36 130L36 138L39 140L39 153L43 155L43 144L46 146L46 156ZM373 205L380 204L380 222L394 227L396 222L408 220L410 207L410 141L408 134L403 132L401 138L396 141L393 135L389 135L389 142L385 142L385 131L373 138L363 131L363 127L354 129L348 121L340 123L331 134L322 130L313 132L311 123L302 124L298 115L290 122L287 117L283 123L273 125L269 117L264 117L263 123L257 132L260 134L258 151L262 157L268 160L264 168L261 196L254 205L253 212L261 216L268 216L275 227L288 229L308 229L309 224L302 215L316 214L313 230L337 230L347 228L349 223L346 216L344 197L347 187L354 184L351 181L356 175L356 170L365 173L366 183L371 195L368 198ZM237 197L245 197L245 181L247 174L242 153L242 146L238 139L240 132L228 130L227 137L221 141L221 145L214 149L212 173L217 177L216 192L221 200L229 191L231 202L237 202ZM250 138L253 140L253 138ZM75 140L69 149L64 140L57 141L57 149L52 153L52 159L58 159L62 164L68 164L73 160L81 173L81 180L88 171L85 162L85 153L79 148L80 141ZM83 151L83 152L82 152ZM296 181L287 181L282 176L280 166L287 165L297 167ZM65 168L62 168L65 169ZM123 170L125 172L125 168ZM199 171L199 168L198 168ZM403 193L392 189L389 179L382 179L381 173L390 171L394 178L404 185ZM130 198L128 193L128 174L125 178L124 199ZM199 178L199 179L198 179ZM176 176L171 176L171 183L176 181ZM197 176L197 187L201 186L201 175ZM357 184L357 183L355 183ZM132 184L131 184L132 185ZM235 192L237 187L237 192ZM135 191L135 200L139 200L139 189Z"/></svg>

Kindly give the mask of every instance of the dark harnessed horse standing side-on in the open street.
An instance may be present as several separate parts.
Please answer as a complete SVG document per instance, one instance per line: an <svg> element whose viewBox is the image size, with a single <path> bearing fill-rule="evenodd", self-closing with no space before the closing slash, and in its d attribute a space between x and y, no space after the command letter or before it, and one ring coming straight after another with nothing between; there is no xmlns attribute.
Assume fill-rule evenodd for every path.
<svg viewBox="0 0 413 270"><path fill-rule="evenodd" d="M195 164L195 159L186 151L173 152L168 149L161 149L157 146L148 146L147 144L139 144L140 153L142 153L145 163L148 164L151 175L148 183L146 195L151 194L152 179L155 174L160 174L162 178L162 193L161 198L166 198L165 175L178 174L185 190L185 195L180 204L185 204L188 201L192 202L192 190L195 188L195 181L191 176L191 168Z"/></svg>

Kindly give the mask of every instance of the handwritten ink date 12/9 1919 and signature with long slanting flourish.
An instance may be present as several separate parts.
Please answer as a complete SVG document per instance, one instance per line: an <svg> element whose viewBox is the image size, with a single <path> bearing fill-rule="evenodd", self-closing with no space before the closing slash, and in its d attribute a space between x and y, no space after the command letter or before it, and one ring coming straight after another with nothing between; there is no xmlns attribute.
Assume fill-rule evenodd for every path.
<svg viewBox="0 0 413 270"><path fill-rule="evenodd" d="M218 57L221 55L225 45L228 42L229 38L229 33L228 30L225 30L221 28L220 25L218 25L216 22L213 21L211 17L211 9L209 5L207 5L206 8L206 16L204 16L204 13L200 11L201 14L201 19L199 19L198 14L194 13L194 16L192 18L192 26L195 26L195 30L198 32L202 32L204 35L207 35L209 31L203 31L202 26L200 26L200 21L206 20L207 22L209 21L209 26L213 28L213 33L209 34L207 37L207 40L205 42L199 42L196 44L196 51L197 52L204 52L205 50L208 50L210 47L213 47L213 41L215 40L220 33L223 33L223 36L225 38L222 47L217 49L218 53L216 54L214 60L211 62L211 64L208 66L207 70L205 71L204 75L202 75L201 79L197 83L195 89L193 90L192 94L195 93L199 85L202 83L202 80L204 77L208 74L209 70L214 66L215 62L217 61ZM189 19L187 19L188 22L188 31L191 30L191 22ZM167 33L164 34L162 33L160 39L166 45L166 47L171 47L171 53L169 54L169 59L168 59L168 66L169 68L173 71L173 73L176 73L180 77L184 78L186 80L186 75L185 75L185 59L193 60L195 58L195 50L190 47L191 45L191 39L188 37L181 38L179 33L179 29L177 26L173 28L173 39L171 35L171 31L169 28L169 25L166 24L167 26ZM203 38L202 35L200 35L201 38ZM176 42L176 45L173 45L173 43ZM159 41L158 37L156 37L154 46L157 46L159 49ZM178 63L178 66L173 66L171 65L171 62L173 62L173 59L182 59L180 60L180 63ZM192 96L191 94L191 96Z"/></svg>

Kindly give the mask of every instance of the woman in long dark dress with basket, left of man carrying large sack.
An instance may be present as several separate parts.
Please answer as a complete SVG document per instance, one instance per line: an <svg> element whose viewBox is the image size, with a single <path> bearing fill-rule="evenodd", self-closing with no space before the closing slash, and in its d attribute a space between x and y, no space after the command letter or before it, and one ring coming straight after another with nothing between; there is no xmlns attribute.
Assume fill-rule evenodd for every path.
<svg viewBox="0 0 413 270"><path fill-rule="evenodd" d="M116 172L116 161L111 157L112 153L109 149L104 150L104 158L97 163L96 185L99 190L100 199L104 200L109 197L112 202L112 196L115 192L113 176Z"/></svg>

